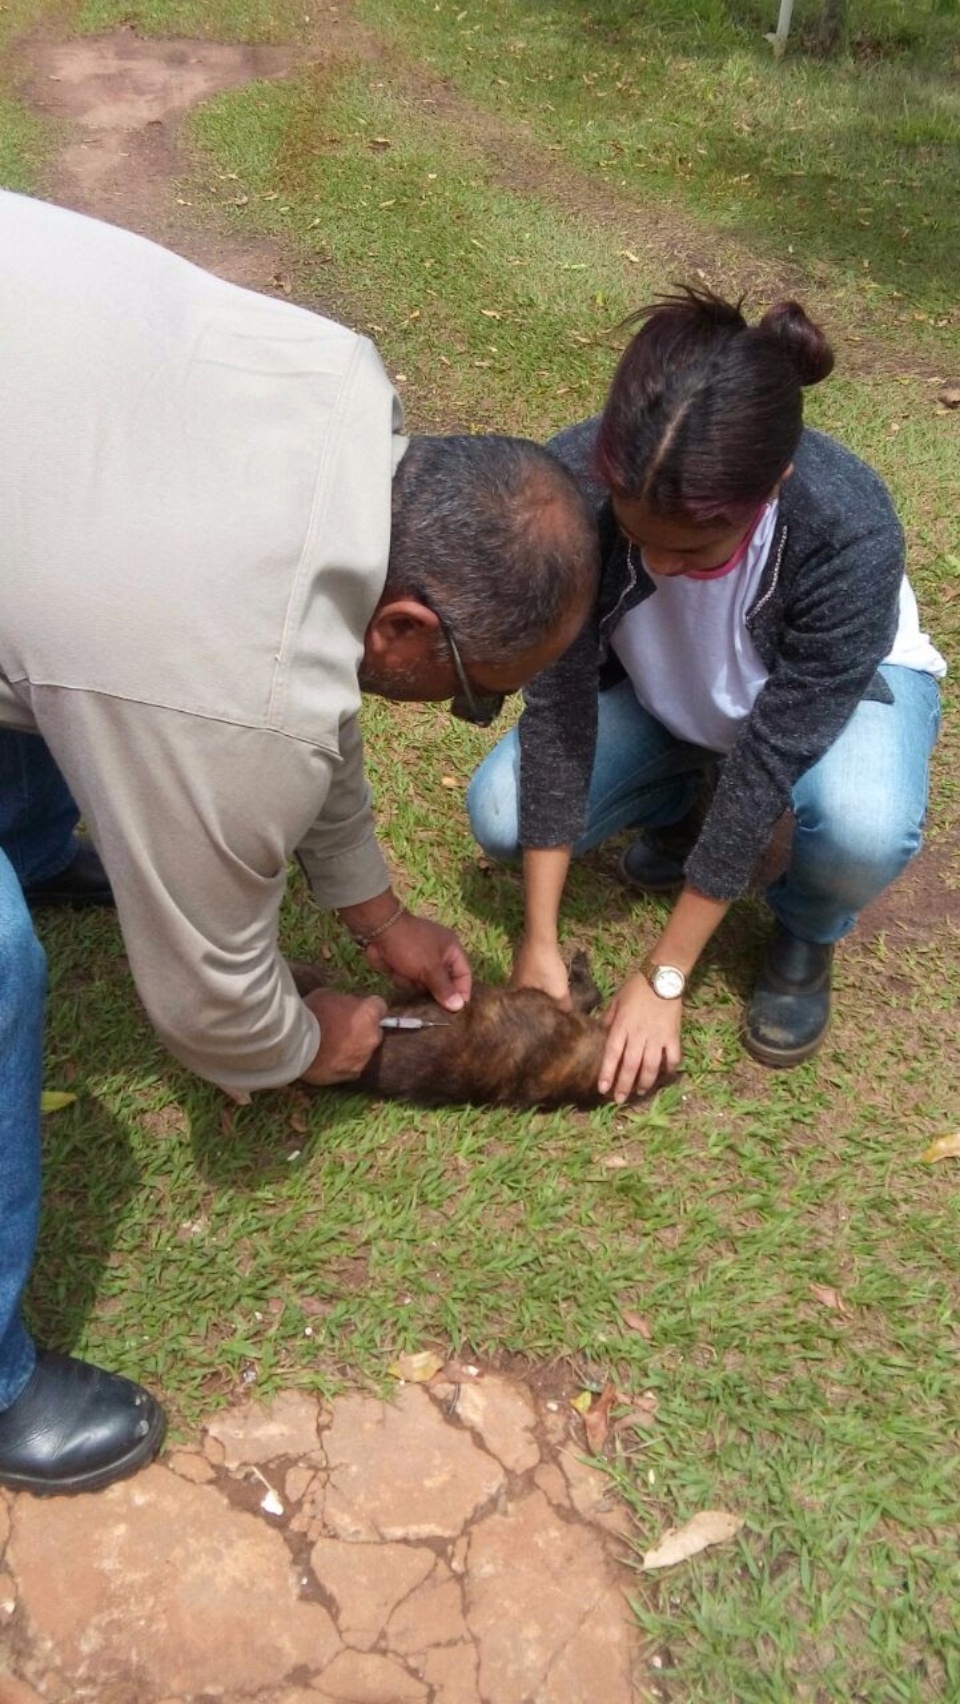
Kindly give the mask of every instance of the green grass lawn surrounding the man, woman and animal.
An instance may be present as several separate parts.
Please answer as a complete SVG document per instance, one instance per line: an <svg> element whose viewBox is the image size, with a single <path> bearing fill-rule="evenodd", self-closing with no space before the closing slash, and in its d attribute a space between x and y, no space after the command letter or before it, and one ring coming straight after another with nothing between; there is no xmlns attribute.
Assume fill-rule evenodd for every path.
<svg viewBox="0 0 960 1704"><path fill-rule="evenodd" d="M39 7L17 7L22 29ZM888 479L926 624L960 656L960 416L934 406L960 366L955 9L870 0L830 65L800 7L776 65L754 0L356 10L389 34L382 58L317 15L326 68L194 116L193 213L276 237L295 298L375 336L414 429L541 436L597 407L617 319L677 276L674 227L728 288L738 266L764 288L795 268L849 356L810 419ZM72 15L295 41L304 12ZM488 738L440 709L365 717L401 891L503 976L520 883L483 867L462 811ZM953 714L929 837L955 888L958 757ZM616 849L575 869L563 925L605 990L665 915L614 872ZM372 985L298 878L281 927L292 954L326 942L343 985ZM754 898L728 917L685 1074L650 1108L520 1116L298 1089L235 1109L152 1036L116 924L44 918L46 1080L78 1099L46 1123L38 1333L148 1379L181 1426L240 1389L380 1382L426 1343L653 1390L656 1419L610 1460L639 1549L704 1506L745 1527L638 1574L651 1680L684 1704L960 1697L957 1162L919 1159L960 1118L957 937L909 913L854 935L824 1053L767 1074L737 1041L764 930Z"/></svg>

